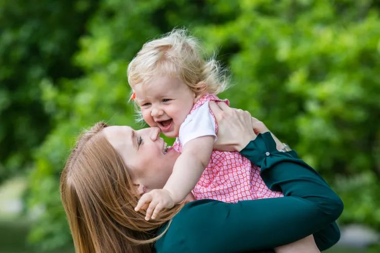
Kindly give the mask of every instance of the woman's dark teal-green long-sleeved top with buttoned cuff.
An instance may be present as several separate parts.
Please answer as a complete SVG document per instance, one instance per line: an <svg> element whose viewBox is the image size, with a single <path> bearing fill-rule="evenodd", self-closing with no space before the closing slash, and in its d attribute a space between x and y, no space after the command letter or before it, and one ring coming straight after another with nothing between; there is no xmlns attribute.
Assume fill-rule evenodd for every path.
<svg viewBox="0 0 380 253"><path fill-rule="evenodd" d="M272 249L314 234L320 250L339 239L335 220L340 198L294 151L279 152L270 133L259 134L242 151L261 167L269 188L284 197L225 203L189 202L173 218L157 252L246 252Z"/></svg>

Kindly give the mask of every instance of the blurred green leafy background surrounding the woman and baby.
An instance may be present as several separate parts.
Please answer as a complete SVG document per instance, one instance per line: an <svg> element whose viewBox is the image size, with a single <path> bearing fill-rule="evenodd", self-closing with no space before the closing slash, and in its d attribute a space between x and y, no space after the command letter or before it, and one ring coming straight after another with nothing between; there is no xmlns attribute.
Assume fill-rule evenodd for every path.
<svg viewBox="0 0 380 253"><path fill-rule="evenodd" d="M379 12L377 0L1 0L0 252L73 252L58 191L65 158L99 120L141 127L126 68L174 27L230 68L220 97L343 198L342 238L328 252L380 252Z"/></svg>

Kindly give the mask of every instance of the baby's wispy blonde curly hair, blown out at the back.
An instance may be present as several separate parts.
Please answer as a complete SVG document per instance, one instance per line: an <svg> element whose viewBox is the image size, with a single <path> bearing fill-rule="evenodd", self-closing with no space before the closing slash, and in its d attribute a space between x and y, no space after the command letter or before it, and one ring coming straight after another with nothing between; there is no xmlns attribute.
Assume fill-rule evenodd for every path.
<svg viewBox="0 0 380 253"><path fill-rule="evenodd" d="M227 70L214 57L204 60L199 41L184 29L174 29L148 41L128 65L131 87L157 75L180 78L196 95L218 94L229 84Z"/></svg>

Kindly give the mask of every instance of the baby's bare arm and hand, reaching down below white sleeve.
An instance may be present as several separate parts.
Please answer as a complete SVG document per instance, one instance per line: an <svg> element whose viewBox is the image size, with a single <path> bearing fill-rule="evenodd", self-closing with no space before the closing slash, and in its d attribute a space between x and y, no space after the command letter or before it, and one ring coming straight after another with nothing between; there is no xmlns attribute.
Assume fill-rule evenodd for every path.
<svg viewBox="0 0 380 253"><path fill-rule="evenodd" d="M152 190L141 196L136 211L149 203L145 220L155 219L162 208L171 208L182 201L197 184L210 161L214 136L203 136L188 141L177 158L172 175L163 189Z"/></svg>

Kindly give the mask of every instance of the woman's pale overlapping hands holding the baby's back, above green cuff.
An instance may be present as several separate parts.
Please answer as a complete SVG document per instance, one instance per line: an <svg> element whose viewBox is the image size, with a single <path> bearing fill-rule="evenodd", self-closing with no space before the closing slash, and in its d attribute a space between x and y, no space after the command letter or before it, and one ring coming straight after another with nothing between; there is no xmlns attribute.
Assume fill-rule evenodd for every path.
<svg viewBox="0 0 380 253"><path fill-rule="evenodd" d="M209 104L218 123L218 139L214 143L214 149L241 151L258 134L270 132L262 121L252 117L248 111L231 108L225 103L216 104L214 101ZM272 137L277 149L281 150L284 147L282 142L273 134Z"/></svg>

